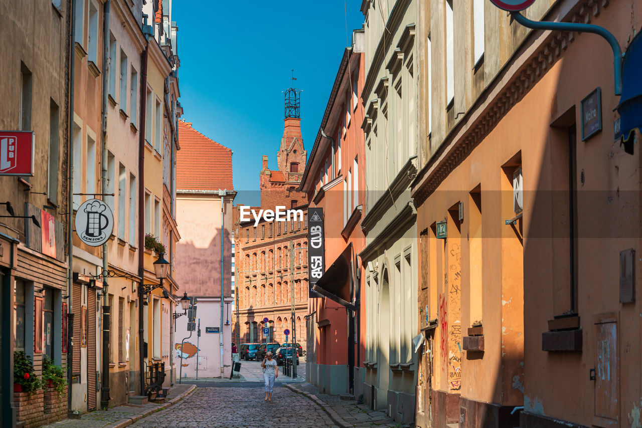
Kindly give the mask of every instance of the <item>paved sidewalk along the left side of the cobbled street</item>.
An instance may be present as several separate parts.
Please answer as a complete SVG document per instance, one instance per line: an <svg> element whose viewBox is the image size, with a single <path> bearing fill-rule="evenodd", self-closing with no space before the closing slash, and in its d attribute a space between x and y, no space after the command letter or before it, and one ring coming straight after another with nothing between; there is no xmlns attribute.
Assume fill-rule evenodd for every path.
<svg viewBox="0 0 642 428"><path fill-rule="evenodd" d="M122 428L152 413L173 406L187 397L196 388L193 384L174 384L169 388L163 404L124 404L102 411L96 410L80 415L79 419L64 419L42 428Z"/></svg>

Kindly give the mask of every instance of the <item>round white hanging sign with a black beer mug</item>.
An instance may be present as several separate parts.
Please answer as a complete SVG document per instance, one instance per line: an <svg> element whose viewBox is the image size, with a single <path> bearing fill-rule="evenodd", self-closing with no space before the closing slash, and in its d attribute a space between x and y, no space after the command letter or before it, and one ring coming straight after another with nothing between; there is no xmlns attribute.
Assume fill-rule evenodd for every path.
<svg viewBox="0 0 642 428"><path fill-rule="evenodd" d="M76 234L89 246L101 246L114 230L114 214L99 199L85 201L76 212Z"/></svg>

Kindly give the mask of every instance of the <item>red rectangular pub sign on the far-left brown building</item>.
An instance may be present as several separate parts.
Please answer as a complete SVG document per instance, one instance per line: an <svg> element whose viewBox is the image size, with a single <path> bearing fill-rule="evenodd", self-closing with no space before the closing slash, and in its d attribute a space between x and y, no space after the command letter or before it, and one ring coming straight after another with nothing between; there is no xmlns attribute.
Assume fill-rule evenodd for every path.
<svg viewBox="0 0 642 428"><path fill-rule="evenodd" d="M0 131L0 175L33 175L32 131Z"/></svg>

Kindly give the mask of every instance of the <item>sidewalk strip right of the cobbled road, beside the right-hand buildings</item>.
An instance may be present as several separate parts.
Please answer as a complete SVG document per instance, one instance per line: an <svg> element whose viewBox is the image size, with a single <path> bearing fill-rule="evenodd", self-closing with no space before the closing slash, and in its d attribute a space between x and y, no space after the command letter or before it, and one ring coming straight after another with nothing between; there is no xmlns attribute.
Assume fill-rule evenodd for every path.
<svg viewBox="0 0 642 428"><path fill-rule="evenodd" d="M307 382L294 385L284 385L297 393L305 395L318 406L322 407L330 418L340 428L358 427L410 427L412 425L397 424L384 411L371 410L364 404L356 404L356 400L342 400L339 395L327 395L318 392L317 386Z"/></svg>

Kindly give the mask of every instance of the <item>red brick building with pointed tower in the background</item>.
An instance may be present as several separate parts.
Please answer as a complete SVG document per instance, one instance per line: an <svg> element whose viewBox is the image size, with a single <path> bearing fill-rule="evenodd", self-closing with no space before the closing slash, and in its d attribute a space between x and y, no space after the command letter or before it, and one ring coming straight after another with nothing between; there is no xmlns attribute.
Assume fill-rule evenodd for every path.
<svg viewBox="0 0 642 428"><path fill-rule="evenodd" d="M298 116L298 114L297 114ZM297 191L308 152L301 137L300 118L286 117L278 169L268 168L263 156L259 175L261 207L297 208L303 218L290 221L241 221L234 210L236 293L233 337L239 343L265 341L263 318L270 320L268 341L285 341L284 330L305 349L305 319L308 314L308 214L306 195ZM292 314L294 313L294 316ZM296 336L295 336L296 335ZM294 336L294 337L293 337Z"/></svg>

